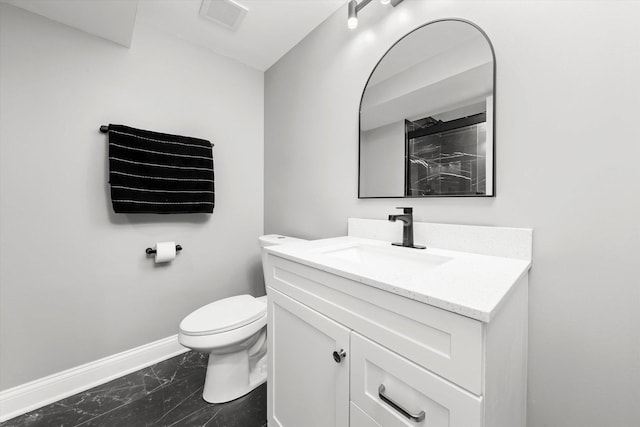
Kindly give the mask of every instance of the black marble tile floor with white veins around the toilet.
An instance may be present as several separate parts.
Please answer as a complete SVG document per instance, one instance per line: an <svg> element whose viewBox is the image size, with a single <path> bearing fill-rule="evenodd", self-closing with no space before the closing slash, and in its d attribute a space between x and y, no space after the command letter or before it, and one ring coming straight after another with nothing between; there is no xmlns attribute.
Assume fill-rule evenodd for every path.
<svg viewBox="0 0 640 427"><path fill-rule="evenodd" d="M224 404L202 399L207 356L190 351L0 427L265 427L266 384Z"/></svg>

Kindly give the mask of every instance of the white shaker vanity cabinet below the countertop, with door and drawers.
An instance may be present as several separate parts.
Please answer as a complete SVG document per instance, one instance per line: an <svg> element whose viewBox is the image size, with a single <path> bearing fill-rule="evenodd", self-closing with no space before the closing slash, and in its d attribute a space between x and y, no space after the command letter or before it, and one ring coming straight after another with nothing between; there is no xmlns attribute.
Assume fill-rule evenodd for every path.
<svg viewBox="0 0 640 427"><path fill-rule="evenodd" d="M277 252L265 265L270 427L525 426L526 274L484 322Z"/></svg>

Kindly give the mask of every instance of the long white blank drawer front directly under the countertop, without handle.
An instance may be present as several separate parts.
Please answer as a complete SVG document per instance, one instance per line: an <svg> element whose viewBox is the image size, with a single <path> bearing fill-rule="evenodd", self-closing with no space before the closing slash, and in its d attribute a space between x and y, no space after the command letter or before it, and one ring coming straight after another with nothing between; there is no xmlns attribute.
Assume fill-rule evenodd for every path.
<svg viewBox="0 0 640 427"><path fill-rule="evenodd" d="M474 394L483 393L481 322L287 259L268 258L267 293L278 290Z"/></svg>

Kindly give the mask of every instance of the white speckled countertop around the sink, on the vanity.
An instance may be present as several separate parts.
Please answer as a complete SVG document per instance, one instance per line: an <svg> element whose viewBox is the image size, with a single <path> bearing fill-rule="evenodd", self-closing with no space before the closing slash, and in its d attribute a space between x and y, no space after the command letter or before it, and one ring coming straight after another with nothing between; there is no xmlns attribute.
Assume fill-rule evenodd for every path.
<svg viewBox="0 0 640 427"><path fill-rule="evenodd" d="M449 257L425 271L405 271L389 265L371 265L330 256L328 253L366 245L413 260ZM479 255L444 249L424 250L391 246L389 242L344 236L266 248L269 254L336 274L387 292L490 322L506 296L531 267L529 260ZM411 269L408 269L411 270Z"/></svg>

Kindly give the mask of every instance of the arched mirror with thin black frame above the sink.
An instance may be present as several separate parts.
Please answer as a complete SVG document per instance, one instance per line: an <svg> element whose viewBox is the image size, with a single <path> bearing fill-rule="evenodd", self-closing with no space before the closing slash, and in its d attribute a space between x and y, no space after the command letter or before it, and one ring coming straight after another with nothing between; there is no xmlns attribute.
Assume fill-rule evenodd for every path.
<svg viewBox="0 0 640 427"><path fill-rule="evenodd" d="M396 42L360 101L359 198L494 196L495 56L464 20Z"/></svg>

